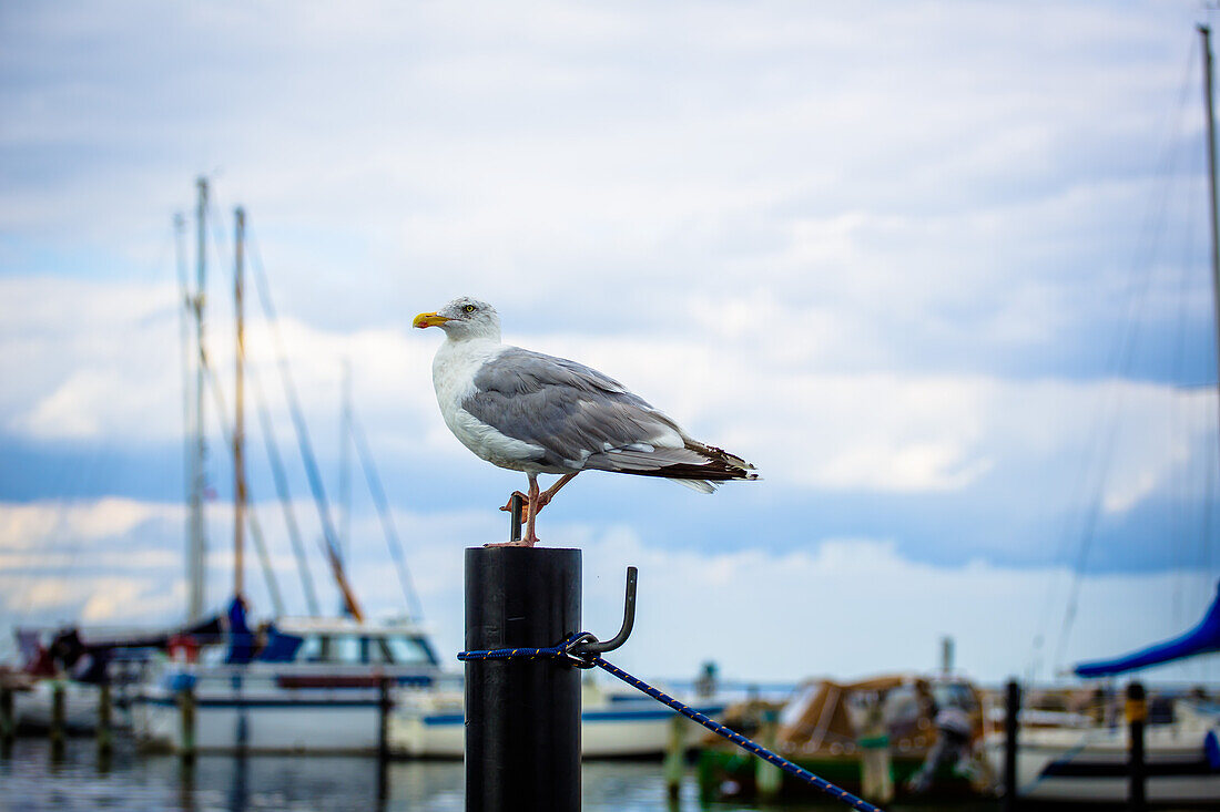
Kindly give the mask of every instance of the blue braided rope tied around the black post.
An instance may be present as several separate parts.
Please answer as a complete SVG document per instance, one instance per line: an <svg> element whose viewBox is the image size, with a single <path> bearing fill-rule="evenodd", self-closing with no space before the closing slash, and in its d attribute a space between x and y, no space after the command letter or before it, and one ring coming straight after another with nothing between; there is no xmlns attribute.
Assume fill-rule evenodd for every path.
<svg viewBox="0 0 1220 812"><path fill-rule="evenodd" d="M667 705L669 707L677 711L682 716L687 717L692 722L698 722L699 724L708 728L716 735L728 739L738 747L747 750L760 758L765 758L766 761L771 762L772 764L775 764L783 772L788 773L789 775L799 778L800 780L814 786L815 789L821 790L826 795L833 797L836 801L847 803L853 810L859 810L860 812L883 812L880 807L869 803L864 799L852 795L842 786L836 786L834 784L831 784L825 778L815 775L804 767L799 767L792 763L783 756L771 752L770 750L758 744L756 741L747 739L736 730L732 730L731 728L725 727L720 722L716 722L715 719L700 713L699 711L695 711L693 707L684 705L683 702L680 702L678 700L673 699L665 691L661 691L649 685L644 680L632 677L622 668L619 668L617 666L606 662L601 657L578 655L573 650L576 649L577 643L580 643L584 638L586 635L576 634L567 638L558 646L549 646L545 649L494 649L490 651L462 651L458 655L458 658L465 662L468 660L517 660L517 658L543 660L549 657L576 657L580 660L581 664L584 664L586 667L597 666L598 668L605 671L606 673L627 683L632 688L640 690L644 694L648 694L658 702Z"/></svg>

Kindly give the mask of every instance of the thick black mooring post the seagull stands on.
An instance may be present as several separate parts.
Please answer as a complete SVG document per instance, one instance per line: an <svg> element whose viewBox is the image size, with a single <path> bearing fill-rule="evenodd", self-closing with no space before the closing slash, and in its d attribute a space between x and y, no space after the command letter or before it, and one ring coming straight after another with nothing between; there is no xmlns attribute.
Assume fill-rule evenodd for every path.
<svg viewBox="0 0 1220 812"><path fill-rule="evenodd" d="M466 550L466 650L548 647L581 630L581 551ZM466 812L581 808L581 672L466 662Z"/></svg>

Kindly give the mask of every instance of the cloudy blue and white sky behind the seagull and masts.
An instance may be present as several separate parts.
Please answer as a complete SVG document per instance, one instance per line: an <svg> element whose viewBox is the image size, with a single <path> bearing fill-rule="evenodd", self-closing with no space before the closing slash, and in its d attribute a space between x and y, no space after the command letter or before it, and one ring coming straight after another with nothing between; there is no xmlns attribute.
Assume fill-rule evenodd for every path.
<svg viewBox="0 0 1220 812"><path fill-rule="evenodd" d="M998 680L1175 634L1220 575L1196 2L6 2L0 7L0 625L184 612L178 248L214 196L207 340L232 400L249 212L333 502L344 365L428 623L525 484L436 407L471 294L764 480L592 473L584 550L623 667ZM194 268L194 233L183 261ZM248 346L327 606L273 326ZM209 400L209 602L232 467ZM231 418L226 418L231 419ZM251 490L305 608L255 415ZM348 555L403 596L350 472ZM338 511L338 505L332 505ZM248 572L270 612L262 573ZM7 633L5 633L7 636ZM1220 678L1197 661L1154 678Z"/></svg>

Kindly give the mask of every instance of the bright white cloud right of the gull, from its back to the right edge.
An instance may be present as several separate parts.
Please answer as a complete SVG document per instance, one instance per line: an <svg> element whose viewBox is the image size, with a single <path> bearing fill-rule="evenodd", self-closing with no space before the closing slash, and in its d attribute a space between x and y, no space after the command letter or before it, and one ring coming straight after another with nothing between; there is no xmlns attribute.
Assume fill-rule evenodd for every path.
<svg viewBox="0 0 1220 812"><path fill-rule="evenodd" d="M732 346L715 339L567 335L534 346L609 371L694 434L748 456L769 482L797 488L935 493L996 474L1022 496L1058 500L1080 474L1077 466L1097 454L1089 443L1102 423L1115 433L1107 497L1130 491L1132 482L1144 482L1147 494L1211 432L1199 419L1214 408L1215 395L1207 390L1122 380L824 373L816 362L776 358L766 350L770 341L765 334ZM1043 479L1015 482L1028 469L1042 469Z"/></svg>

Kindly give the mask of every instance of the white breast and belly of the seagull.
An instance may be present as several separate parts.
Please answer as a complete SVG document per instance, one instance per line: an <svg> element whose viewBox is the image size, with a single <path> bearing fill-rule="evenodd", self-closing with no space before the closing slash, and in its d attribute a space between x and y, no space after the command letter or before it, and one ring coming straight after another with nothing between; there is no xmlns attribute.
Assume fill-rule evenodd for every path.
<svg viewBox="0 0 1220 812"><path fill-rule="evenodd" d="M432 385L445 426L462 445L501 468L527 471L532 468L529 462L543 454L542 447L501 434L461 407L462 401L475 394L475 376L479 368L504 350L498 341L447 340L432 358Z"/></svg>

